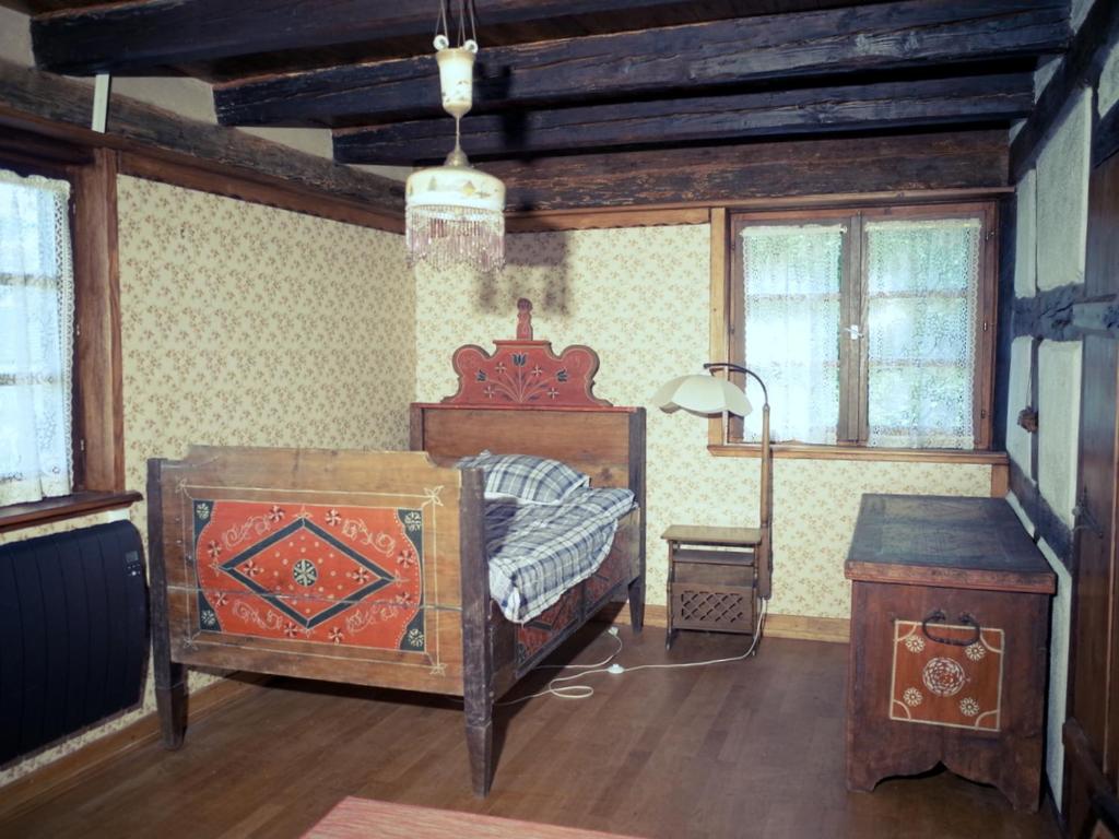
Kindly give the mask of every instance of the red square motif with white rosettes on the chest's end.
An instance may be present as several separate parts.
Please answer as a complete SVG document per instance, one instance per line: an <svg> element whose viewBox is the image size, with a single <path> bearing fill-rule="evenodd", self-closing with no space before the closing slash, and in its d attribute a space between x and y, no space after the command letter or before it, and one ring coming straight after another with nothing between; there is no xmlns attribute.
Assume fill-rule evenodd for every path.
<svg viewBox="0 0 1119 839"><path fill-rule="evenodd" d="M1004 643L1000 629L976 638L975 626L937 623L930 638L920 621L895 621L890 718L999 730Z"/></svg>

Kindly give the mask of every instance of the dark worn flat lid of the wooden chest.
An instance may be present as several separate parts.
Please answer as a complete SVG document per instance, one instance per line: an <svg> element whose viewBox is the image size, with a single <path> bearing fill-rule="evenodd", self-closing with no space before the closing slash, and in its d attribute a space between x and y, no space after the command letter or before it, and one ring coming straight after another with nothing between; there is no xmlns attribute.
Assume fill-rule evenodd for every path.
<svg viewBox="0 0 1119 839"><path fill-rule="evenodd" d="M1056 578L1006 500L865 494L848 579L1052 594Z"/></svg>

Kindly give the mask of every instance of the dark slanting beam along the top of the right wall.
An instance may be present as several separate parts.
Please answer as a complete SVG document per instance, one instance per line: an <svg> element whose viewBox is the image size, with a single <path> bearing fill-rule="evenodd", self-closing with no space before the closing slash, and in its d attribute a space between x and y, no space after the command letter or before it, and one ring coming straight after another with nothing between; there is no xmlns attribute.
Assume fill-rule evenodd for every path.
<svg viewBox="0 0 1119 839"><path fill-rule="evenodd" d="M1094 87L1108 53L1119 43L1119 2L1096 0L1061 62L1037 97L1037 106L1010 144L1010 182L1033 168L1050 135L1075 102L1081 87Z"/></svg>

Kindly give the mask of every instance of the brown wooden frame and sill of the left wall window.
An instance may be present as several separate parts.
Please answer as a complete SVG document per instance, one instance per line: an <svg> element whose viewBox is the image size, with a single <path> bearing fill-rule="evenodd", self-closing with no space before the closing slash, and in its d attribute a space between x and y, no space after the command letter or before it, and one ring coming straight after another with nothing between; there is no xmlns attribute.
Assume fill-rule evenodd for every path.
<svg viewBox="0 0 1119 839"><path fill-rule="evenodd" d="M0 531L128 507L120 277L116 249L116 152L12 132L0 167L70 182L74 262L74 383L69 496L0 507Z"/></svg>

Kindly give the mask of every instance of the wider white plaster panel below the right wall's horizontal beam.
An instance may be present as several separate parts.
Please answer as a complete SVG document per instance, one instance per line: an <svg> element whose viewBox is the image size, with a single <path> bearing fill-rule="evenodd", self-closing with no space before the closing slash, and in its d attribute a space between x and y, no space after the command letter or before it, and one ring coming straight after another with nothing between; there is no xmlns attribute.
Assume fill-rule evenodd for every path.
<svg viewBox="0 0 1119 839"><path fill-rule="evenodd" d="M1037 483L1071 528L1080 442L1080 341L1042 341L1037 350Z"/></svg>

